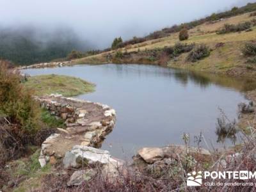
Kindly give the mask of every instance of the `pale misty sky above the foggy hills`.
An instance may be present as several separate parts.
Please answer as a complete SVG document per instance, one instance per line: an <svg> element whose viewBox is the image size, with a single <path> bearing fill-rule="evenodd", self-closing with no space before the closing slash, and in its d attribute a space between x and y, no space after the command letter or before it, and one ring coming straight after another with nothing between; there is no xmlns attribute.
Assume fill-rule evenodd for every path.
<svg viewBox="0 0 256 192"><path fill-rule="evenodd" d="M0 0L0 26L71 28L98 48L253 0Z"/></svg>

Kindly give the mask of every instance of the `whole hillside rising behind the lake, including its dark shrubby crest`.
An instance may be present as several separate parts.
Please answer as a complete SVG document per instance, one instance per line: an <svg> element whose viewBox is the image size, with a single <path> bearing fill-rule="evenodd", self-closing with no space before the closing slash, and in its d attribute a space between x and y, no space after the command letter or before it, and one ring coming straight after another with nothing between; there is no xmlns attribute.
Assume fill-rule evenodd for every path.
<svg viewBox="0 0 256 192"><path fill-rule="evenodd" d="M234 8L233 8L234 9ZM232 10L233 10L232 9ZM249 12L256 10L256 3L248 4L242 8L235 8L233 15L230 16L232 10L224 13L212 14L211 17L189 22L180 26L168 28L177 29L172 33L163 33L154 39L146 36L136 44L132 40L120 44L117 49L107 49L92 56L86 56L72 60L73 64L88 63L143 63L164 65L167 67L186 68L189 70L200 70L205 72L214 72L218 74L228 74L230 76L250 76L255 75L255 66L248 63L248 57L244 56L242 49L246 42L255 40L256 37L256 13ZM246 12L246 13L244 13ZM223 18L221 18L221 16ZM210 20L212 17L215 18ZM224 34L216 33L225 25L239 26L246 22L252 22L250 29L238 32L230 32ZM179 30L182 27L188 29L188 40L179 40ZM163 29L162 31L167 29ZM156 32L159 33L159 32ZM152 34L156 34L152 33ZM151 35L152 36L152 35ZM135 38L134 38L135 40ZM130 42L130 44L129 44ZM173 48L176 44L182 45L200 45L204 44L209 47L211 53L209 56L202 58L196 62L189 62L189 51L176 54L175 56L166 56L166 49ZM125 45L125 46L124 46ZM123 47L124 46L124 47ZM170 49L169 49L170 51ZM168 52L168 51L167 51Z"/></svg>

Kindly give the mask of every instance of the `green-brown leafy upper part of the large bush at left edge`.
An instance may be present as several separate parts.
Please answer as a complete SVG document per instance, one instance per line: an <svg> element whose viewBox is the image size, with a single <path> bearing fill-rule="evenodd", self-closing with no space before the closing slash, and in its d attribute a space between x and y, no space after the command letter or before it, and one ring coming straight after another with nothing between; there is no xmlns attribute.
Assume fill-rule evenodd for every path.
<svg viewBox="0 0 256 192"><path fill-rule="evenodd" d="M39 105L32 98L32 92L20 83L19 72L8 70L4 61L0 61L0 65L0 115L19 125L19 132L35 133L39 128Z"/></svg>

